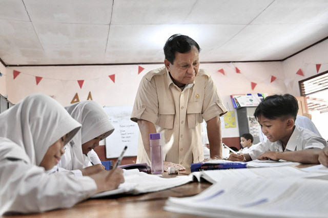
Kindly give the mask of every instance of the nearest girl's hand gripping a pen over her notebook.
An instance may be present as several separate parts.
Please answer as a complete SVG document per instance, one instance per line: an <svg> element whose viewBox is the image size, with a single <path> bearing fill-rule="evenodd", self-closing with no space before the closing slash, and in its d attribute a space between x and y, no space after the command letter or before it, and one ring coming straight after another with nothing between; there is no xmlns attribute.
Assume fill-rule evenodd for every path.
<svg viewBox="0 0 328 218"><path fill-rule="evenodd" d="M114 190L118 188L119 184L124 183L123 170L120 168L103 170L90 177L97 184L96 193Z"/></svg>

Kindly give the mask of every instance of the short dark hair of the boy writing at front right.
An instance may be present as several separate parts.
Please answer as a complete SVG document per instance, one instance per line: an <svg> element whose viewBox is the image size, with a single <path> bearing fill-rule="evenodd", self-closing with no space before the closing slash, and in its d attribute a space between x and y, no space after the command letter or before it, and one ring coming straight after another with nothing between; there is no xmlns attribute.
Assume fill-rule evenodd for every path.
<svg viewBox="0 0 328 218"><path fill-rule="evenodd" d="M296 120L298 112L297 99L290 95L271 95L265 98L255 109L254 116L275 120L283 116L292 116Z"/></svg>

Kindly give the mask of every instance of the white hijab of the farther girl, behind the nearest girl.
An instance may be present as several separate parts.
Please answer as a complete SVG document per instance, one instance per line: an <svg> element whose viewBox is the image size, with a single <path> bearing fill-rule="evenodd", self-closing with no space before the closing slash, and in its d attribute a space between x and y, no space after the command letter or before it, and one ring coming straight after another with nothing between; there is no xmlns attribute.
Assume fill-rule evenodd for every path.
<svg viewBox="0 0 328 218"><path fill-rule="evenodd" d="M81 101L69 106L65 109L68 113L80 124L79 131L72 139L74 144L71 150L72 166L68 170L82 169L85 155L82 152L82 144L103 134L105 136L101 140L111 135L114 131L114 126L109 121L109 118L104 110L95 101Z"/></svg>

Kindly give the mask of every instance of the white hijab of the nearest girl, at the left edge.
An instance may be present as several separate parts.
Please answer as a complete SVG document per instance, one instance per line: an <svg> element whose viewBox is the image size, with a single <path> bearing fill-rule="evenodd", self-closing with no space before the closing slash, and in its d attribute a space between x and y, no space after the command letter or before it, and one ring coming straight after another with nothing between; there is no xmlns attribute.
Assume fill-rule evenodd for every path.
<svg viewBox="0 0 328 218"><path fill-rule="evenodd" d="M0 161L21 159L39 165L48 148L80 129L64 107L49 96L33 94L0 114Z"/></svg>

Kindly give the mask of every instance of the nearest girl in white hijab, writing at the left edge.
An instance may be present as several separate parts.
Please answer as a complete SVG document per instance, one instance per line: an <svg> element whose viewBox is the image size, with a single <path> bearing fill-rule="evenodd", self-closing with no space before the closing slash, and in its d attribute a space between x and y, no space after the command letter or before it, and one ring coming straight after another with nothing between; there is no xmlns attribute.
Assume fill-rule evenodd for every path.
<svg viewBox="0 0 328 218"><path fill-rule="evenodd" d="M68 208L124 181L119 170L91 177L45 172L58 163L64 144L79 128L45 95L31 95L0 114L0 216Z"/></svg>

